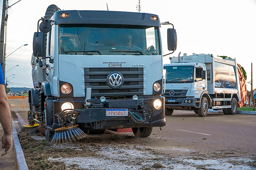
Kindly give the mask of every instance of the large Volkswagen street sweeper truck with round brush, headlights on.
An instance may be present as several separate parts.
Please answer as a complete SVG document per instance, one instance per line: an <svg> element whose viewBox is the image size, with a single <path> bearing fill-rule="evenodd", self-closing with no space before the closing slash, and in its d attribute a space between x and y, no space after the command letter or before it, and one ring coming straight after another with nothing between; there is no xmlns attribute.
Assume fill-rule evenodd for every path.
<svg viewBox="0 0 256 170"><path fill-rule="evenodd" d="M160 26L155 14L50 5L33 39L28 122L53 143L120 128L147 137L165 126ZM167 32L174 51L173 25Z"/></svg>

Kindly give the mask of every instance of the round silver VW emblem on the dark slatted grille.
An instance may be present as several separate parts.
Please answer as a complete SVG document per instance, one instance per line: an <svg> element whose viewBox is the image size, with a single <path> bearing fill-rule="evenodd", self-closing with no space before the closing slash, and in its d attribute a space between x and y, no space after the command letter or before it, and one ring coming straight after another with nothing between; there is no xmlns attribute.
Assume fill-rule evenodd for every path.
<svg viewBox="0 0 256 170"><path fill-rule="evenodd" d="M107 84L114 89L120 88L123 85L123 75L115 72L107 76Z"/></svg>

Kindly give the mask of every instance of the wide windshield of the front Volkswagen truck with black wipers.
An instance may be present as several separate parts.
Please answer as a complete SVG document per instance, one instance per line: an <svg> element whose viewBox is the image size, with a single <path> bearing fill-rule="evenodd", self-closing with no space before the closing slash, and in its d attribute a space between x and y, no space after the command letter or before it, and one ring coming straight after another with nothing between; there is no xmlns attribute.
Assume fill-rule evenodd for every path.
<svg viewBox="0 0 256 170"><path fill-rule="evenodd" d="M60 25L59 54L160 55L158 27Z"/></svg>

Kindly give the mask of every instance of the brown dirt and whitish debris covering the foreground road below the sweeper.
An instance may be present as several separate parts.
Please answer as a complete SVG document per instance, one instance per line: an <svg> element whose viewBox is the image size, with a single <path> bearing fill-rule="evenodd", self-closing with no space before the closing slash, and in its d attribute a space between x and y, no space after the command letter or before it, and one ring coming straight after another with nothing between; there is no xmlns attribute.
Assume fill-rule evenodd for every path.
<svg viewBox="0 0 256 170"><path fill-rule="evenodd" d="M57 145L47 142L44 136L27 133L20 133L19 139L29 170L256 169L256 155L243 157L239 150L200 152L192 147L172 147L172 141L156 133L137 138L133 133L106 130L104 134L87 134L74 143Z"/></svg>

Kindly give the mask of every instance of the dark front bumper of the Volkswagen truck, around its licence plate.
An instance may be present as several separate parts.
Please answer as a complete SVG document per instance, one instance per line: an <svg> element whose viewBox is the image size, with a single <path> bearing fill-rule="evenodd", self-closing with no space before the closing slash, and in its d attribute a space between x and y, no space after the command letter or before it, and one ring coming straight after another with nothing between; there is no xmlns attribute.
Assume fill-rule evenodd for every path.
<svg viewBox="0 0 256 170"><path fill-rule="evenodd" d="M162 108L154 109L153 102L156 99L162 101ZM77 116L77 123L82 129L118 129L130 127L163 127L166 125L165 120L165 102L164 97L144 97L139 100L122 99L109 100L108 103L101 103L92 105L93 108L84 109L84 99L61 99L54 100L54 125L53 129L58 128L58 120L55 116L60 112L61 104L64 102L71 102L74 104L74 109L84 109L82 113ZM135 123L128 116L106 116L106 109L150 109L145 111L146 120L143 123Z"/></svg>

